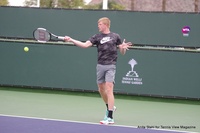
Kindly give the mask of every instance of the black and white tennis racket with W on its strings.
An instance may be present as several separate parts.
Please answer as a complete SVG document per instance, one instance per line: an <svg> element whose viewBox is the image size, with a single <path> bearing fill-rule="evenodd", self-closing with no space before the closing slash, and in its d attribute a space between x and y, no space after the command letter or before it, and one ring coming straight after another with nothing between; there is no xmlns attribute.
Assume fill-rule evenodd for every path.
<svg viewBox="0 0 200 133"><path fill-rule="evenodd" d="M48 31L45 28L37 28L37 29L35 29L33 31L33 37L38 42L42 42L42 43L48 42L50 40L53 40L53 41L62 40L62 41L64 41L64 37L63 36L57 36L57 35L51 33L50 31Z"/></svg>

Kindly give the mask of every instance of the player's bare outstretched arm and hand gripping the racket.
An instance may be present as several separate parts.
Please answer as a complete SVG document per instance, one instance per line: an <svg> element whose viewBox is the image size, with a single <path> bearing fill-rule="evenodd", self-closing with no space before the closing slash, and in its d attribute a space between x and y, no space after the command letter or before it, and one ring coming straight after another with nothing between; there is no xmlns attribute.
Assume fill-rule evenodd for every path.
<svg viewBox="0 0 200 133"><path fill-rule="evenodd" d="M91 47L92 46L92 43L90 41L86 41L86 42L81 42L81 41L78 41L78 40L75 40L69 36L65 36L64 40L66 42L72 42L74 43L76 46L79 46L81 48L88 48L88 47Z"/></svg>

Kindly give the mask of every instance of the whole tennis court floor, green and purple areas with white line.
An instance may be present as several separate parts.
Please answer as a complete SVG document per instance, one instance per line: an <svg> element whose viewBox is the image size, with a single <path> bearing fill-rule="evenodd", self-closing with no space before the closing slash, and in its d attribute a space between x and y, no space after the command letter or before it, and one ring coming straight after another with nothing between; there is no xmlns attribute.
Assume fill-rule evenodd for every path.
<svg viewBox="0 0 200 133"><path fill-rule="evenodd" d="M200 103L116 95L114 125L100 125L97 93L0 87L0 133L194 133Z"/></svg>

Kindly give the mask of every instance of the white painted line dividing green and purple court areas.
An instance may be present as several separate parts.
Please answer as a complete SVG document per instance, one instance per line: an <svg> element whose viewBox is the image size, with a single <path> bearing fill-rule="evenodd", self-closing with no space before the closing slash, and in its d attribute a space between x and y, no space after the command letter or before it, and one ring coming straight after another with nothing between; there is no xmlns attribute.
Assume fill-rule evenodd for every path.
<svg viewBox="0 0 200 133"><path fill-rule="evenodd" d="M48 121L58 121L58 122L73 122L73 123L80 123L80 124L91 124L91 125L99 125L99 123L92 123L92 122L83 122L83 121L74 121L74 120L62 120L62 119L51 119L51 118L42 118L42 117L29 117L29 116L19 116L19 115L6 115L0 114L0 116L5 117L15 117L15 118L25 118L25 119L35 119L35 120L48 120ZM108 125L109 126L109 125ZM125 128L137 128L136 126L126 126L126 125L111 125L115 127L125 127ZM148 130L160 130L160 131L169 131L169 132L180 132L180 133L198 133L198 132L191 132L191 131L178 131L178 130L167 130L167 129L155 129L155 128L145 128Z"/></svg>

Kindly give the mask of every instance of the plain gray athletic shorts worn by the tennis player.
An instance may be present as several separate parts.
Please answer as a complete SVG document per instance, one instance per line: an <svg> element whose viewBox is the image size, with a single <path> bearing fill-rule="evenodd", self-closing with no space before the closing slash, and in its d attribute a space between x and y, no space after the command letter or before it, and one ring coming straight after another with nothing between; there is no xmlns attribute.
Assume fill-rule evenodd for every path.
<svg viewBox="0 0 200 133"><path fill-rule="evenodd" d="M116 65L97 64L97 84L103 82L115 82Z"/></svg>

